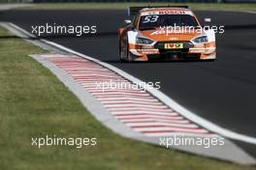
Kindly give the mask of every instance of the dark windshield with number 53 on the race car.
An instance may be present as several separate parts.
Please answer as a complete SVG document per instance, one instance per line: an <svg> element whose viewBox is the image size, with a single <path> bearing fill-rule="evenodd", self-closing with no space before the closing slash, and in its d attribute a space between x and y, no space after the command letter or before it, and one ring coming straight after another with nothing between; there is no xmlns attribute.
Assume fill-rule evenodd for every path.
<svg viewBox="0 0 256 170"><path fill-rule="evenodd" d="M139 29L163 26L199 26L194 16L190 14L150 14L140 19Z"/></svg>

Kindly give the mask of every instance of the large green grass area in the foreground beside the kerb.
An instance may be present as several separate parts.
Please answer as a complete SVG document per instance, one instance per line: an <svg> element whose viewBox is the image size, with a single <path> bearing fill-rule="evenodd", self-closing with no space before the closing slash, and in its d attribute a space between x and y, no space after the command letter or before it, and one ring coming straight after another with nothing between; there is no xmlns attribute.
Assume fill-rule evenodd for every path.
<svg viewBox="0 0 256 170"><path fill-rule="evenodd" d="M252 170L125 139L103 127L29 54L45 52L0 29L0 169ZM97 145L31 146L32 137L96 137Z"/></svg>

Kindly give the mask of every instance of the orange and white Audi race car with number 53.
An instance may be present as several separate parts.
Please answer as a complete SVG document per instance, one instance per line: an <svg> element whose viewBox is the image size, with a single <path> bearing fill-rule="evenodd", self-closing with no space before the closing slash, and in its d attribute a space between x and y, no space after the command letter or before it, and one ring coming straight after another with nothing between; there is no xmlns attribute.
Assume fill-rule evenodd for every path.
<svg viewBox="0 0 256 170"><path fill-rule="evenodd" d="M119 28L121 61L215 60L215 32L186 6L130 7Z"/></svg>

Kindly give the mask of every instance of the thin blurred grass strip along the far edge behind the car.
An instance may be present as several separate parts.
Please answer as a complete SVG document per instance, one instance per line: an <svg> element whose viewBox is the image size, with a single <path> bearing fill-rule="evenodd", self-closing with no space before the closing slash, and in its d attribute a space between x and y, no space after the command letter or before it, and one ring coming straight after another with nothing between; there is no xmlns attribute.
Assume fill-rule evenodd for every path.
<svg viewBox="0 0 256 170"><path fill-rule="evenodd" d="M42 3L22 9L30 10L124 10L129 6L188 5L192 10L217 11L256 11L256 4L225 4L225 3Z"/></svg>

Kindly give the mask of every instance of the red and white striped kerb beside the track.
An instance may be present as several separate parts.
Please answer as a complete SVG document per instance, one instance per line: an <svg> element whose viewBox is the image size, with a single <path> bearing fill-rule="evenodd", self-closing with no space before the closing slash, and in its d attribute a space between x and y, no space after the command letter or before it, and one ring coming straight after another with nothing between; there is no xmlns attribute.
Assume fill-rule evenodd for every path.
<svg viewBox="0 0 256 170"><path fill-rule="evenodd" d="M59 69L66 71L77 83L109 110L124 125L146 136L172 134L212 135L206 128L181 116L147 92L138 89L99 89L97 83L127 79L103 66L75 55L43 55Z"/></svg>

